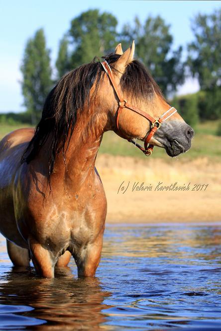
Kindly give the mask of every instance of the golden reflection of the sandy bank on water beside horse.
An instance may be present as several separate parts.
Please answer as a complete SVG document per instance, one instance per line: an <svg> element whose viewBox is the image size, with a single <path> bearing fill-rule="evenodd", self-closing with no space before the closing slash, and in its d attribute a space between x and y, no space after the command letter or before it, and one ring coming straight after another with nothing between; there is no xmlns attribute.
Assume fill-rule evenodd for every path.
<svg viewBox="0 0 221 331"><path fill-rule="evenodd" d="M109 228L103 252L109 256L196 257L220 260L221 226L127 226ZM209 254L210 253L210 254ZM194 260L191 259L191 263Z"/></svg>

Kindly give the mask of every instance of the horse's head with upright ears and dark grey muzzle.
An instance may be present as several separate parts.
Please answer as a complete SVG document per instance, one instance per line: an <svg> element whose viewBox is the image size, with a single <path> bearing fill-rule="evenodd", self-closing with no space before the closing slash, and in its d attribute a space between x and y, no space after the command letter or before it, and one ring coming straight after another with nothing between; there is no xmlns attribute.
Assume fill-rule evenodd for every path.
<svg viewBox="0 0 221 331"><path fill-rule="evenodd" d="M171 106L166 102L158 85L144 66L133 60L133 56L134 42L124 53L121 45L117 45L115 57L112 55L106 58L111 68L112 81L110 75L106 75L104 83L107 85L105 88L106 96L104 97L109 99L112 118L111 129L128 140L137 138L145 141L149 137L148 143L165 148L171 157L186 152L191 147L194 130L178 112L174 113L175 108L169 112L171 116L168 117L166 114L163 117L165 121L162 123L159 120L160 123L152 124L151 120L142 115L142 112L145 112L157 120ZM105 69L108 74L108 68ZM109 92L110 88L112 92ZM119 102L119 98L124 101ZM118 108L119 105L122 107ZM136 112L137 108L139 111L141 110L141 114L139 111ZM148 136L153 127L158 128L153 129L152 137L151 135Z"/></svg>

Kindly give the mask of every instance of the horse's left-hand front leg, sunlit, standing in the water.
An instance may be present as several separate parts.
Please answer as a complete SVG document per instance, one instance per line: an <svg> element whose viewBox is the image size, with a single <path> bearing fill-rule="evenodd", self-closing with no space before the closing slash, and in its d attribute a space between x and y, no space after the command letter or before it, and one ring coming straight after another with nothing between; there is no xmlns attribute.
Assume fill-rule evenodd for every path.
<svg viewBox="0 0 221 331"><path fill-rule="evenodd" d="M36 273L41 277L54 278L56 257L35 241L29 240L31 259Z"/></svg>

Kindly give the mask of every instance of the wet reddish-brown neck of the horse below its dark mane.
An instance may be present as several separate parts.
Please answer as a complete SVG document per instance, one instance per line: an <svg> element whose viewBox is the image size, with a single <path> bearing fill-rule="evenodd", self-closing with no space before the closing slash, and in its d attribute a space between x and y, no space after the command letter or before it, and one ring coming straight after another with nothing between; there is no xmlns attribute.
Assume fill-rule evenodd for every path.
<svg viewBox="0 0 221 331"><path fill-rule="evenodd" d="M56 158L55 172L64 172L63 178L67 185L82 185L94 177L96 156L107 124L105 116L102 117L95 119L84 114L80 116L70 141L67 139L65 156L61 152Z"/></svg>

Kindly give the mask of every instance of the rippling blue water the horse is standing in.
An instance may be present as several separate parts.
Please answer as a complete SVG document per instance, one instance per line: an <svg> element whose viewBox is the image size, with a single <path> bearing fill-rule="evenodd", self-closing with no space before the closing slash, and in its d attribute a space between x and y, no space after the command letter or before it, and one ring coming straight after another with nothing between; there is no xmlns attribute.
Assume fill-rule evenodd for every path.
<svg viewBox="0 0 221 331"><path fill-rule="evenodd" d="M218 224L108 226L94 279L0 260L0 330L221 330Z"/></svg>

